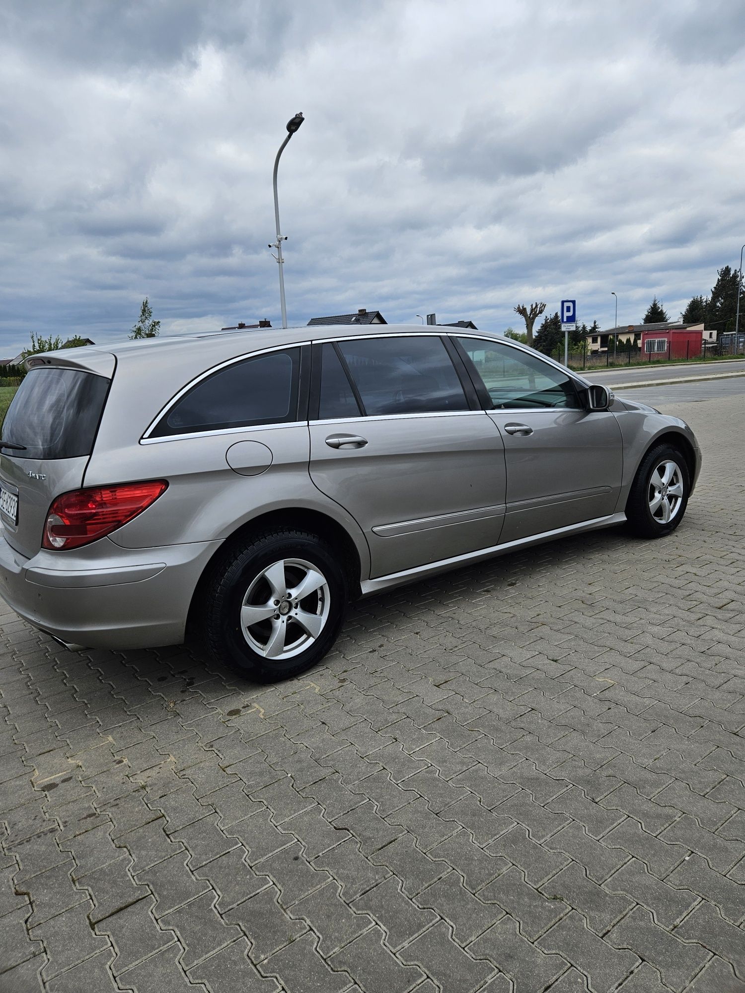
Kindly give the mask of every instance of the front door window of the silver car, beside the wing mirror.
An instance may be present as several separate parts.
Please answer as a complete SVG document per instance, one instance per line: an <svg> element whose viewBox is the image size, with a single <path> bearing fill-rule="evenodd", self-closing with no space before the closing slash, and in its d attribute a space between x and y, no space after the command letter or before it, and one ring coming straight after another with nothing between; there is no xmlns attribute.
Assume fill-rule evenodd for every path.
<svg viewBox="0 0 745 993"><path fill-rule="evenodd" d="M481 376L493 410L582 406L569 376L537 355L478 338L458 341Z"/></svg>

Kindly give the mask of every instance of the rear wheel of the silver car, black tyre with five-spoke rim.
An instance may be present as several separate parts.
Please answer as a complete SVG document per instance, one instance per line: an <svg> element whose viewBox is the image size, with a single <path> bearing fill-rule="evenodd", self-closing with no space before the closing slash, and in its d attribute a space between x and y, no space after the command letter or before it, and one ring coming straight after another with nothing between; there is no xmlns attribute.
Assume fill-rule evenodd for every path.
<svg viewBox="0 0 745 993"><path fill-rule="evenodd" d="M318 535L290 528L254 535L216 562L203 587L203 640L239 675L289 679L334 644L348 590L343 564Z"/></svg>

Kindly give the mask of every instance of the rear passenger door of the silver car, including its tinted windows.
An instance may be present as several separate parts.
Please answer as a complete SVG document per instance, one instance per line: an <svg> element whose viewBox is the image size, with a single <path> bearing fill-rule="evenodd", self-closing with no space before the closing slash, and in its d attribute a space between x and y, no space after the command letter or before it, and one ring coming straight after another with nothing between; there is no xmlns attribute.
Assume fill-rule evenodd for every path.
<svg viewBox="0 0 745 993"><path fill-rule="evenodd" d="M314 346L311 477L364 530L373 578L499 542L504 445L456 364L435 335Z"/></svg>

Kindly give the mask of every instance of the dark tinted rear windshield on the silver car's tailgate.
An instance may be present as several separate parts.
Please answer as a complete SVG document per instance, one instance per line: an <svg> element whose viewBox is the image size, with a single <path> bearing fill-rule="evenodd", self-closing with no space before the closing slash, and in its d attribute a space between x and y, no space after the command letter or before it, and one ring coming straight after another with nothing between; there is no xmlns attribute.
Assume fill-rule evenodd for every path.
<svg viewBox="0 0 745 993"><path fill-rule="evenodd" d="M32 369L13 397L2 440L14 459L74 459L90 455L110 380L79 369Z"/></svg>

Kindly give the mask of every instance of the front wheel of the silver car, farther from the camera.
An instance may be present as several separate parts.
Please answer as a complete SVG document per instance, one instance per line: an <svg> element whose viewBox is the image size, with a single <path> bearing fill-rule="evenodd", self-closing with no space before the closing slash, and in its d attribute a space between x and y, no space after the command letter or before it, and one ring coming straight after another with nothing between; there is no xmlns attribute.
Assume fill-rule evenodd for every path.
<svg viewBox="0 0 745 993"><path fill-rule="evenodd" d="M629 529L640 538L664 538L683 518L690 493L688 466L679 449L662 444L642 461L626 502Z"/></svg>

